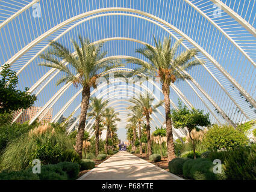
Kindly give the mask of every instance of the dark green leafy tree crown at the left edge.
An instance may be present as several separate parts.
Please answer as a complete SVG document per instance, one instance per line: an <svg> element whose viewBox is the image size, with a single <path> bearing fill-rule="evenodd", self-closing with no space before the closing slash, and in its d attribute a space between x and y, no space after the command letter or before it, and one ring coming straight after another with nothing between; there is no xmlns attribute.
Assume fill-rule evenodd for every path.
<svg viewBox="0 0 256 192"><path fill-rule="evenodd" d="M36 101L35 95L30 95L28 88L25 91L16 89L17 83L19 82L16 72L10 70L10 65L5 64L2 67L0 75L0 113L8 112L13 110L27 109L34 104Z"/></svg>

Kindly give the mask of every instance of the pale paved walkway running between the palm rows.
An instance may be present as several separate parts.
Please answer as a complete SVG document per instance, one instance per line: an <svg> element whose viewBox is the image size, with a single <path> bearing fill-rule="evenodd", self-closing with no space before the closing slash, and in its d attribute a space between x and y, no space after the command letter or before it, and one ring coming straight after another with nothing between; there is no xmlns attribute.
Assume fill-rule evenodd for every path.
<svg viewBox="0 0 256 192"><path fill-rule="evenodd" d="M122 151L108 158L78 180L183 180L142 158Z"/></svg>

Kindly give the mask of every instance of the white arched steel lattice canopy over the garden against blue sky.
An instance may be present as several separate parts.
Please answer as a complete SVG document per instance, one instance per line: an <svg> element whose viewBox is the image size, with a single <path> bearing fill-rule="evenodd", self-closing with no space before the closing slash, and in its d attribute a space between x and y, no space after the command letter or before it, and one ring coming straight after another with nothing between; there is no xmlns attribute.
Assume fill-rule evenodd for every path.
<svg viewBox="0 0 256 192"><path fill-rule="evenodd" d="M51 122L61 115L76 117L71 130L79 121L81 87L71 83L55 86L62 72L38 65L43 62L40 53L49 49L49 41L73 50L70 38L78 40L81 34L93 43L104 41L107 56L125 62L131 57L145 60L135 49L145 44L154 46L153 35L160 39L170 35L172 43L184 38L179 52L195 47L205 64L187 71L191 80L170 86L171 107L176 109L180 99L189 108L210 113L212 123L236 126L256 117L255 1L2 0L1 65L8 63L17 72L18 88L30 87L31 94L37 95L34 106L39 110L30 123L37 118L42 121L52 112ZM117 70L134 67L126 64ZM110 98L109 106L120 112L120 124L125 124L128 99L135 90L148 90L157 100L163 99L160 84L152 80L142 84L118 80L102 83L91 95ZM22 113L17 112L13 121ZM164 108L160 107L152 118L152 127L162 125ZM89 124L86 128L92 134ZM176 132L176 137L183 134L182 130Z"/></svg>

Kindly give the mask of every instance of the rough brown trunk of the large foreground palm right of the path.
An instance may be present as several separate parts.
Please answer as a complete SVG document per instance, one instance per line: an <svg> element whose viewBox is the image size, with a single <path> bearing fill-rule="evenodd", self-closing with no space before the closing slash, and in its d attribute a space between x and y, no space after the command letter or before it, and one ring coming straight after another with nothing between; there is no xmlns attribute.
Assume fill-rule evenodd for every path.
<svg viewBox="0 0 256 192"><path fill-rule="evenodd" d="M167 152L168 161L173 160L175 157L175 149L172 135L172 119L170 118L170 88L169 85L164 83L162 85L162 91L164 94L164 109L165 109L165 119L166 119L166 139L167 139Z"/></svg>

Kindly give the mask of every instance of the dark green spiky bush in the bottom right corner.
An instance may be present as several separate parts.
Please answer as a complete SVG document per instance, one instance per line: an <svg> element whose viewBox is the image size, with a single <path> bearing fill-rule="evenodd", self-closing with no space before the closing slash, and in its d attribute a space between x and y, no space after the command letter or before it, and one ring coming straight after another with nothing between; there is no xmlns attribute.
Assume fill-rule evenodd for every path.
<svg viewBox="0 0 256 192"><path fill-rule="evenodd" d="M256 180L256 149L246 146L229 150L224 164L228 179Z"/></svg>

